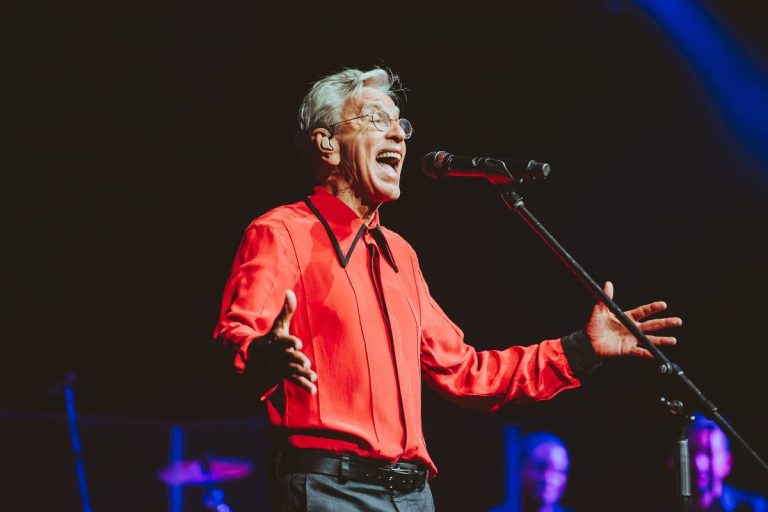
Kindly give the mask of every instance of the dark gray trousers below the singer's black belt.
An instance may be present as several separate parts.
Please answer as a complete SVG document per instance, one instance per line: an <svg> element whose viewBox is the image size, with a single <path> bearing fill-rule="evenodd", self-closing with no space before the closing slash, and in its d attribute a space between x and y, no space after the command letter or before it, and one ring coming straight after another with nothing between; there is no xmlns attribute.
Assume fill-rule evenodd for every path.
<svg viewBox="0 0 768 512"><path fill-rule="evenodd" d="M316 473L272 475L268 483L274 512L434 512L429 483L411 492L381 485L339 483L338 477Z"/></svg>

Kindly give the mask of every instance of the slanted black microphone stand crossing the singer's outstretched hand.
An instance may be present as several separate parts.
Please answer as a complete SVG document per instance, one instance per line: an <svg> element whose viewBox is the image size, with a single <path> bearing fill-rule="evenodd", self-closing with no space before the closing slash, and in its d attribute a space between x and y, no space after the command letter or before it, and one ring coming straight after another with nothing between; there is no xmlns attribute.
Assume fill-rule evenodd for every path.
<svg viewBox="0 0 768 512"><path fill-rule="evenodd" d="M570 269L571 272L581 281L581 283L589 290L592 295L597 297L597 299L605 304L608 309L613 313L616 318L624 325L624 327L627 328L629 332L632 333L632 335L637 338L638 342L643 346L643 348L647 349L653 356L656 358L657 361L659 361L659 372L662 375L665 376L671 376L676 378L685 388L687 388L693 396L701 403L702 407L705 409L705 412L708 413L708 415L723 429L724 432L728 436L730 436L732 439L735 439L739 444L741 444L744 449L757 461L758 465L763 469L766 477L768 477L768 464L757 454L755 450L752 449L752 447L742 438L736 430L731 426L730 423L723 417L723 415L720 414L720 411L718 410L717 406L715 406L714 403L712 403L710 400L708 400L704 394L696 387L696 385L683 373L683 370L675 363L669 360L664 353L659 350L656 345L651 343L648 338L646 338L645 334L640 330L640 328L633 322L632 320L627 317L627 315L624 314L624 311L616 305L616 303L613 302L613 300L608 297L605 292L603 292L603 289L595 282L594 279L592 279L589 274L579 265L573 257L568 254L568 252L563 248L562 245L558 243L557 240L549 233L549 231L546 230L546 228L541 224L541 222L536 219L536 217L531 214L530 211L525 207L525 203L523 203L523 198L516 192L515 188L522 183L522 179L517 179L514 176L510 174L511 182L508 183L500 183L498 181L493 182L494 185L496 185L496 188L499 190L499 193L501 194L501 198L504 201L504 204L507 205L507 207L510 210L514 210L518 215L520 215L523 220L528 224L528 226L541 238L545 244L560 258L560 260L563 262L563 264ZM677 413L682 414L682 413ZM680 437L678 437L680 439ZM685 445L687 449L687 439L685 440ZM687 456L687 453L686 453ZM682 480L681 480L682 481ZM678 490L680 490L680 487L678 486ZM687 502L684 497L681 496L680 498L681 504L684 504ZM687 508L683 508L682 510L687 510Z"/></svg>

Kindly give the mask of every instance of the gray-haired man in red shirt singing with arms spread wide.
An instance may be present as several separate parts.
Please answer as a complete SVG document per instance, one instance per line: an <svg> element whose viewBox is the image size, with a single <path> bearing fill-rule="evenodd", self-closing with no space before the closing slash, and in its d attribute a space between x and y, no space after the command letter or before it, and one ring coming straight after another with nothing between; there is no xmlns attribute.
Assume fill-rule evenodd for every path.
<svg viewBox="0 0 768 512"><path fill-rule="evenodd" d="M603 305L585 330L561 339L482 352L464 342L413 248L379 221L379 207L400 196L413 134L397 84L377 68L312 86L299 140L318 185L248 226L224 291L214 336L235 349L236 369L267 402L278 510L433 510L422 379L493 411L575 388L601 358L652 357ZM680 325L644 320L665 307L629 315L646 332Z"/></svg>

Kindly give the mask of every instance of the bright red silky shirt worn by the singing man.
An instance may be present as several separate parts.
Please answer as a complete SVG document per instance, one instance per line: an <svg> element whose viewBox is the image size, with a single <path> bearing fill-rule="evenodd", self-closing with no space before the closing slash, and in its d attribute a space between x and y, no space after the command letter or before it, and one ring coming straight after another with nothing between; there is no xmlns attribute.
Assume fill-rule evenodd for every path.
<svg viewBox="0 0 768 512"><path fill-rule="evenodd" d="M321 187L310 201L347 255L362 220ZM370 226L377 224L378 213ZM318 392L284 381L263 397L270 421L286 429L291 444L422 462L434 476L422 434L422 377L450 400L485 411L580 385L560 340L483 352L465 344L430 296L411 246L382 230L398 268L383 257L375 266L383 304L369 266L367 244L375 242L367 229L346 267L303 202L267 212L245 232L214 336L237 348L235 367L242 372L249 343L272 327L285 290L296 293L290 331L318 374Z"/></svg>

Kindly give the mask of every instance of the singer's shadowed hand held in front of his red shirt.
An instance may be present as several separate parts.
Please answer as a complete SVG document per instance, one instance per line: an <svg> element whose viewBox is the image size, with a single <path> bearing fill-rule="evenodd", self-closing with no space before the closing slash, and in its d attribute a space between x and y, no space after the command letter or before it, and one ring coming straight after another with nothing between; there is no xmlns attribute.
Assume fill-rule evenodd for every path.
<svg viewBox="0 0 768 512"><path fill-rule="evenodd" d="M317 374L312 370L309 358L301 351L301 340L289 332L294 311L296 295L293 290L286 290L285 304L272 329L254 340L248 349L252 363L249 366L259 380L267 379L274 385L288 379L315 394Z"/></svg>

